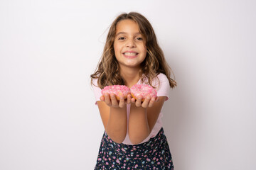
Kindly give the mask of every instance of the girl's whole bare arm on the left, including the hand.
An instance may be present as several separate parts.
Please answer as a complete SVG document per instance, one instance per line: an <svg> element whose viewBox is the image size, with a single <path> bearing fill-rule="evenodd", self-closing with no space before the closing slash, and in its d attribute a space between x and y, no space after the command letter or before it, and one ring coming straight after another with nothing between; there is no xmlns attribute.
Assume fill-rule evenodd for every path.
<svg viewBox="0 0 256 170"><path fill-rule="evenodd" d="M127 98L127 103L130 102L131 96ZM97 101L100 116L107 135L117 143L122 143L127 134L127 105L124 98L117 98L114 94L100 97L101 101Z"/></svg>

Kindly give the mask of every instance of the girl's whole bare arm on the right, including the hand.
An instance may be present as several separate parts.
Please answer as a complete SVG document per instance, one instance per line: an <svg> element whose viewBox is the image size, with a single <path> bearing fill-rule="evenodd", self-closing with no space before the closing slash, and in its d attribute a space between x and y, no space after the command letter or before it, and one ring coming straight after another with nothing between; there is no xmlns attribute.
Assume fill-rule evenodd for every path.
<svg viewBox="0 0 256 170"><path fill-rule="evenodd" d="M142 103L140 99L135 102L133 98L128 124L129 138L132 144L139 144L149 136L156 124L165 99L166 96L146 98Z"/></svg>

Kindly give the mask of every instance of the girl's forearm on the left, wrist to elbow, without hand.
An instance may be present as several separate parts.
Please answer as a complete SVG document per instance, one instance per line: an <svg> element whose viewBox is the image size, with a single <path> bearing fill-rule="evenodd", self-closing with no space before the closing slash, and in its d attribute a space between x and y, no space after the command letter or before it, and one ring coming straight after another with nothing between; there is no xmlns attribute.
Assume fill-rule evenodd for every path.
<svg viewBox="0 0 256 170"><path fill-rule="evenodd" d="M110 118L106 126L107 135L117 143L122 143L127 134L127 107L110 107Z"/></svg>

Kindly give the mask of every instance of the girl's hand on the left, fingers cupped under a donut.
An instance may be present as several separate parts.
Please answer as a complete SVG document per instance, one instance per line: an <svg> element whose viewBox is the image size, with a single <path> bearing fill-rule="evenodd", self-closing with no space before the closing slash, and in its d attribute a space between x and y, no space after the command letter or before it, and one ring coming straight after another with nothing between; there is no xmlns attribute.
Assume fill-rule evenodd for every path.
<svg viewBox="0 0 256 170"><path fill-rule="evenodd" d="M124 100L124 96L121 95L119 97L119 101L117 101L117 97L114 94L104 94L100 96L100 101L105 101L107 106L114 108L123 108L126 104L131 103L132 96L131 94L127 95L127 99Z"/></svg>

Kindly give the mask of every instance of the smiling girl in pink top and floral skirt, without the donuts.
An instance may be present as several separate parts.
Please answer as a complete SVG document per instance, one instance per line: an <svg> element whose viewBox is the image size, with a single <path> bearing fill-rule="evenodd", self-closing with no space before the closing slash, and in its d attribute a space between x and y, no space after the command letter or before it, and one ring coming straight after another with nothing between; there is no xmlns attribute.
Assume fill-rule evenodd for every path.
<svg viewBox="0 0 256 170"><path fill-rule="evenodd" d="M105 128L95 169L174 169L162 128L161 108L176 86L154 30L139 13L123 13L114 20L100 63L91 75L92 89ZM157 97L142 102L129 94L117 101L102 96L110 85L149 84Z"/></svg>

